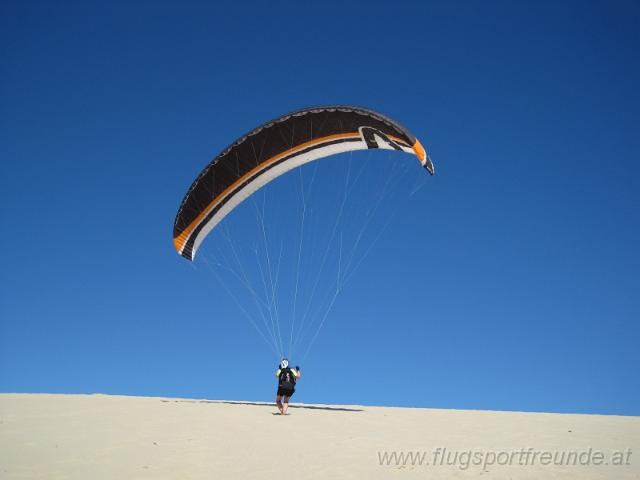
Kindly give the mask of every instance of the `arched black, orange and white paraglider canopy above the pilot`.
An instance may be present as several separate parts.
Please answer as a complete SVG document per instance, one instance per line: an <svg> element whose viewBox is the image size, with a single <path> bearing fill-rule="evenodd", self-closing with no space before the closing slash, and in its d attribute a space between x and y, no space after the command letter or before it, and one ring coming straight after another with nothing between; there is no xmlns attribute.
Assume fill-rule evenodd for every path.
<svg viewBox="0 0 640 480"><path fill-rule="evenodd" d="M193 260L204 238L229 212L285 172L329 155L369 148L414 154L434 174L422 144L373 110L310 108L258 127L214 158L191 185L173 226L176 250Z"/></svg>

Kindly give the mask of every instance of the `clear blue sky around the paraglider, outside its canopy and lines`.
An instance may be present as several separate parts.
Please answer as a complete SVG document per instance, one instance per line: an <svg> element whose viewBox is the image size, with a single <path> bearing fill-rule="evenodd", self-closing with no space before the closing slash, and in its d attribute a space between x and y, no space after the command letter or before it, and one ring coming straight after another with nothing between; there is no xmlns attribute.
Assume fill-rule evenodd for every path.
<svg viewBox="0 0 640 480"><path fill-rule="evenodd" d="M271 399L174 215L239 135L348 103L437 174L294 398L639 415L640 5L302 3L2 3L0 391Z"/></svg>

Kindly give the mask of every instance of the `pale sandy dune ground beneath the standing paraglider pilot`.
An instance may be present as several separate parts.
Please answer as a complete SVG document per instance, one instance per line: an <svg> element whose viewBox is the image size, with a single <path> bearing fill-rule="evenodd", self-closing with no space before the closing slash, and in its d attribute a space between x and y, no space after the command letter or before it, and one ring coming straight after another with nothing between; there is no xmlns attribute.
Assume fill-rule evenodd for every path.
<svg viewBox="0 0 640 480"><path fill-rule="evenodd" d="M640 479L640 417L335 405L275 412L243 402L1 394L0 478Z"/></svg>

